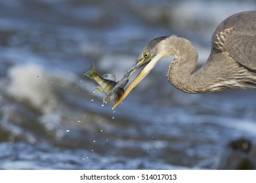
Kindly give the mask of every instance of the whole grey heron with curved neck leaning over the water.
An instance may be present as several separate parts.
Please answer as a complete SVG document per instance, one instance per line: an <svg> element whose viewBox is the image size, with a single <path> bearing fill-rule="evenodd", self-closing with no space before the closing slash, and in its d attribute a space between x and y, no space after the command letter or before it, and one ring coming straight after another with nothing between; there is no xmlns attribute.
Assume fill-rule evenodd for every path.
<svg viewBox="0 0 256 183"><path fill-rule="evenodd" d="M113 108L158 61L171 55L175 59L168 67L167 80L182 92L209 93L227 88L253 88L256 84L256 10L234 14L218 25L211 39L211 54L196 72L198 52L190 41L175 35L150 41L129 73L146 66Z"/></svg>

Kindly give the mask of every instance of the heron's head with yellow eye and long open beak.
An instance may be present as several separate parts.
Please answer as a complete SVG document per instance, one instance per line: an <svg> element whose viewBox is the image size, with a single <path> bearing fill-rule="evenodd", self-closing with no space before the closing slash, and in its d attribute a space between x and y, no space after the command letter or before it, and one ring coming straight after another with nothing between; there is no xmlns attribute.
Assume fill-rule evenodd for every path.
<svg viewBox="0 0 256 183"><path fill-rule="evenodd" d="M139 82L146 76L150 71L156 66L156 63L160 61L162 58L166 57L165 53L165 40L169 38L168 36L158 37L148 42L146 47L140 53L139 58L137 59L135 65L130 69L130 71L136 71L140 67L145 66L139 73L139 75L131 82L125 93L123 93L122 97L117 101L114 108L125 99L125 97L139 84Z"/></svg>

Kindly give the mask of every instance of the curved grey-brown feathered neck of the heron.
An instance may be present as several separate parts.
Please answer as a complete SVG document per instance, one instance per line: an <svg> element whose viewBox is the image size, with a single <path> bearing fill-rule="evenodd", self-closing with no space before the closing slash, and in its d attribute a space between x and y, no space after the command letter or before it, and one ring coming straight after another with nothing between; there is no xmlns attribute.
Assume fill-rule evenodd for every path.
<svg viewBox="0 0 256 183"><path fill-rule="evenodd" d="M204 68L194 72L198 62L198 52L190 41L173 37L168 51L170 55L175 56L175 59L169 65L167 79L175 88L186 93L214 92L211 90L216 88L209 86L212 82L203 74Z"/></svg>

